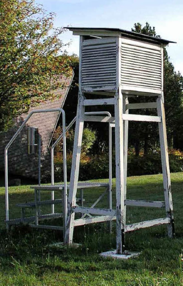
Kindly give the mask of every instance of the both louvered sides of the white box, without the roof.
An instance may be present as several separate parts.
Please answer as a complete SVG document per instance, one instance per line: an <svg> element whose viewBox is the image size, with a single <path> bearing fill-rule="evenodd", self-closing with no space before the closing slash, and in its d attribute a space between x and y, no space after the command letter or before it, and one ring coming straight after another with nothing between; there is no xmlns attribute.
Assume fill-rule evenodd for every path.
<svg viewBox="0 0 183 286"><path fill-rule="evenodd" d="M161 94L162 65L157 44L116 37L83 40L81 88L116 90L120 77L122 92Z"/></svg>

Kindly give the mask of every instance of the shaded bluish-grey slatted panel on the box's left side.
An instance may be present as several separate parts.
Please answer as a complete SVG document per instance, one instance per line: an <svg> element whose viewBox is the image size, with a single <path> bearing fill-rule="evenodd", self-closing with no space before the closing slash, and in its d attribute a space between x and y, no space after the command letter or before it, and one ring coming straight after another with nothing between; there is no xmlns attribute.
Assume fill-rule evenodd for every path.
<svg viewBox="0 0 183 286"><path fill-rule="evenodd" d="M95 90L116 88L116 38L83 41L81 86Z"/></svg>

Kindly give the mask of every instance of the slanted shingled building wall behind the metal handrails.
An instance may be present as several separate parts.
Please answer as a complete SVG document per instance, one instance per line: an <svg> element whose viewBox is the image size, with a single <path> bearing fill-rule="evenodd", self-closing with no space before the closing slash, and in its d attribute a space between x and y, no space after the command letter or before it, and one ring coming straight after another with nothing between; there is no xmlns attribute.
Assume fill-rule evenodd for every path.
<svg viewBox="0 0 183 286"><path fill-rule="evenodd" d="M66 87L58 89L55 94L59 94L59 99L41 103L36 107L30 108L29 113L35 109L62 108L71 78L66 80ZM4 170L4 149L13 137L19 126L23 123L28 114L22 114L15 119L15 125L8 131L0 133L0 170ZM61 116L61 115L60 115ZM8 150L8 171L14 175L21 175L28 178L38 179L38 154L27 153L27 127L37 127L41 135L41 179L47 180L51 174L51 162L49 141L56 126L59 112L35 113L27 121L27 124L17 136Z"/></svg>

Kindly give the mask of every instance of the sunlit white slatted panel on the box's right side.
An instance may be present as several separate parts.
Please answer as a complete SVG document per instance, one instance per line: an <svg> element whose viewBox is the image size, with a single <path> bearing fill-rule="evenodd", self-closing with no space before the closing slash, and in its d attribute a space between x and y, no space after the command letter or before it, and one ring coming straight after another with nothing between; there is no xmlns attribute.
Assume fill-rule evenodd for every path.
<svg viewBox="0 0 183 286"><path fill-rule="evenodd" d="M122 39L121 84L131 90L162 88L162 54L158 45Z"/></svg>

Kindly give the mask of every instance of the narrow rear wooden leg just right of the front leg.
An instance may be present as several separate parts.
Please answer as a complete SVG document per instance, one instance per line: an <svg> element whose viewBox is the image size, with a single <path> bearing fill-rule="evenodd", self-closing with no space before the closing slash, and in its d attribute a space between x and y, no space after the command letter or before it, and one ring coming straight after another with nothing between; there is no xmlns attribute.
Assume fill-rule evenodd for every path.
<svg viewBox="0 0 183 286"><path fill-rule="evenodd" d="M123 98L123 113L128 114L126 106L128 104L128 97ZM128 161L128 120L123 122L124 128L124 200L126 200L127 188L127 161ZM126 206L124 206L124 224L126 224Z"/></svg>

